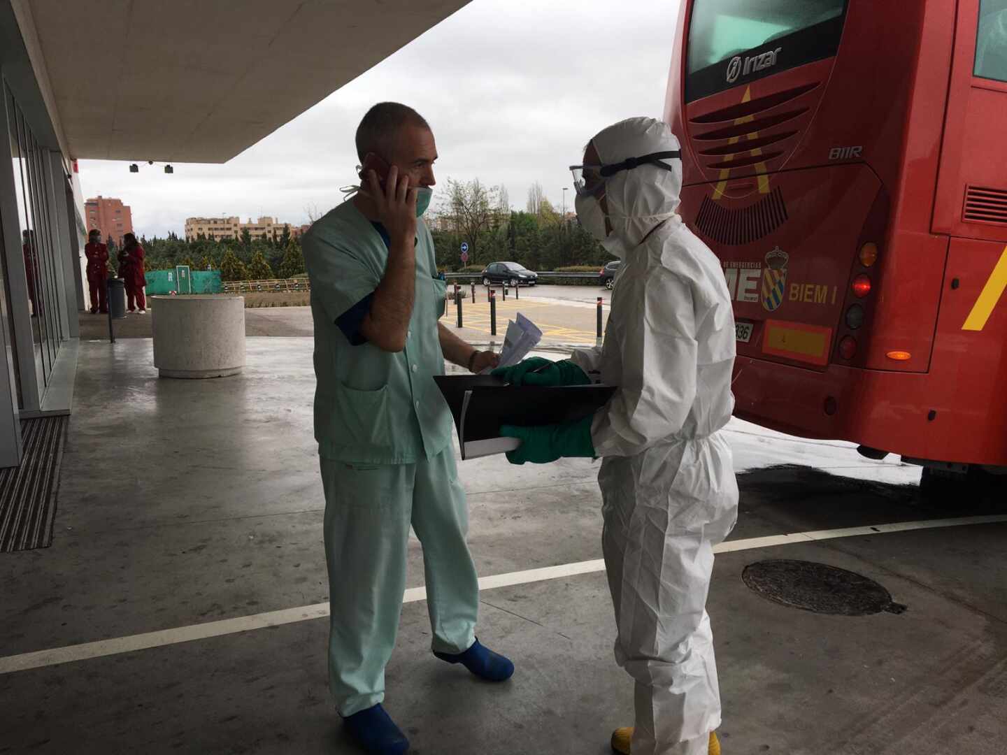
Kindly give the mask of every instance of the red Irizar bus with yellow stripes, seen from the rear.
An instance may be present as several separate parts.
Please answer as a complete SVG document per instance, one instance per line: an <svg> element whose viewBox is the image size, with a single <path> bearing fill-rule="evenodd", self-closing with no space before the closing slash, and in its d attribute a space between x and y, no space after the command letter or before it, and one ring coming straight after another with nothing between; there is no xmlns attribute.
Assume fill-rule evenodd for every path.
<svg viewBox="0 0 1007 755"><path fill-rule="evenodd" d="M1007 481L1007 0L683 0L665 119L735 414Z"/></svg>

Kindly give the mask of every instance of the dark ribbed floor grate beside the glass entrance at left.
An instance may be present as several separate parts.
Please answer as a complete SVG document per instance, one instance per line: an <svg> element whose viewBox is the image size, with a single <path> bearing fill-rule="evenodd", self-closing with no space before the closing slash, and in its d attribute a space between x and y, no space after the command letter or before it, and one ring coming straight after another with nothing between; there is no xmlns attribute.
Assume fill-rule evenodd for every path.
<svg viewBox="0 0 1007 755"><path fill-rule="evenodd" d="M0 553L48 548L66 417L21 422L21 466L0 469Z"/></svg>

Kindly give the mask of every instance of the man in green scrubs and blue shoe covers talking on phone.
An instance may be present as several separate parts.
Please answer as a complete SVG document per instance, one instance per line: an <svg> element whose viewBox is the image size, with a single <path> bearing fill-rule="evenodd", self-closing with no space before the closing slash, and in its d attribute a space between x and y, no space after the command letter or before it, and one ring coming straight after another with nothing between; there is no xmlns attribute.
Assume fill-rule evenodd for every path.
<svg viewBox="0 0 1007 755"><path fill-rule="evenodd" d="M325 489L329 686L350 736L380 755L409 743L382 707L406 582L423 545L437 657L500 682L510 660L475 638L478 583L465 543L452 422L433 376L444 359L494 366L439 322L445 283L419 215L434 185L427 122L376 105L356 131L363 186L302 241L314 318L315 438Z"/></svg>

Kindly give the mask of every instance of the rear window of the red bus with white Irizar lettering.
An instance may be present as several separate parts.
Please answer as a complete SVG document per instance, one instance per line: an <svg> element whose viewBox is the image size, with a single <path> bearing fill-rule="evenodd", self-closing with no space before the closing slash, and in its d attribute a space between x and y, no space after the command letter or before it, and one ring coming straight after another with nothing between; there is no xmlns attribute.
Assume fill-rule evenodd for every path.
<svg viewBox="0 0 1007 755"><path fill-rule="evenodd" d="M831 57L846 0L695 0L686 102Z"/></svg>

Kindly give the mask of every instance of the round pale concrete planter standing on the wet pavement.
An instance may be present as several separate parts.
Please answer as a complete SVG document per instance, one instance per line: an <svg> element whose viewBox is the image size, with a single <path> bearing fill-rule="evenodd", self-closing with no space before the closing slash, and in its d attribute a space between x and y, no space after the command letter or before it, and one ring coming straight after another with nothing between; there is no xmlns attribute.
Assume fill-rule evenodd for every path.
<svg viewBox="0 0 1007 755"><path fill-rule="evenodd" d="M152 296L154 366L161 378L226 378L245 366L245 298Z"/></svg>

